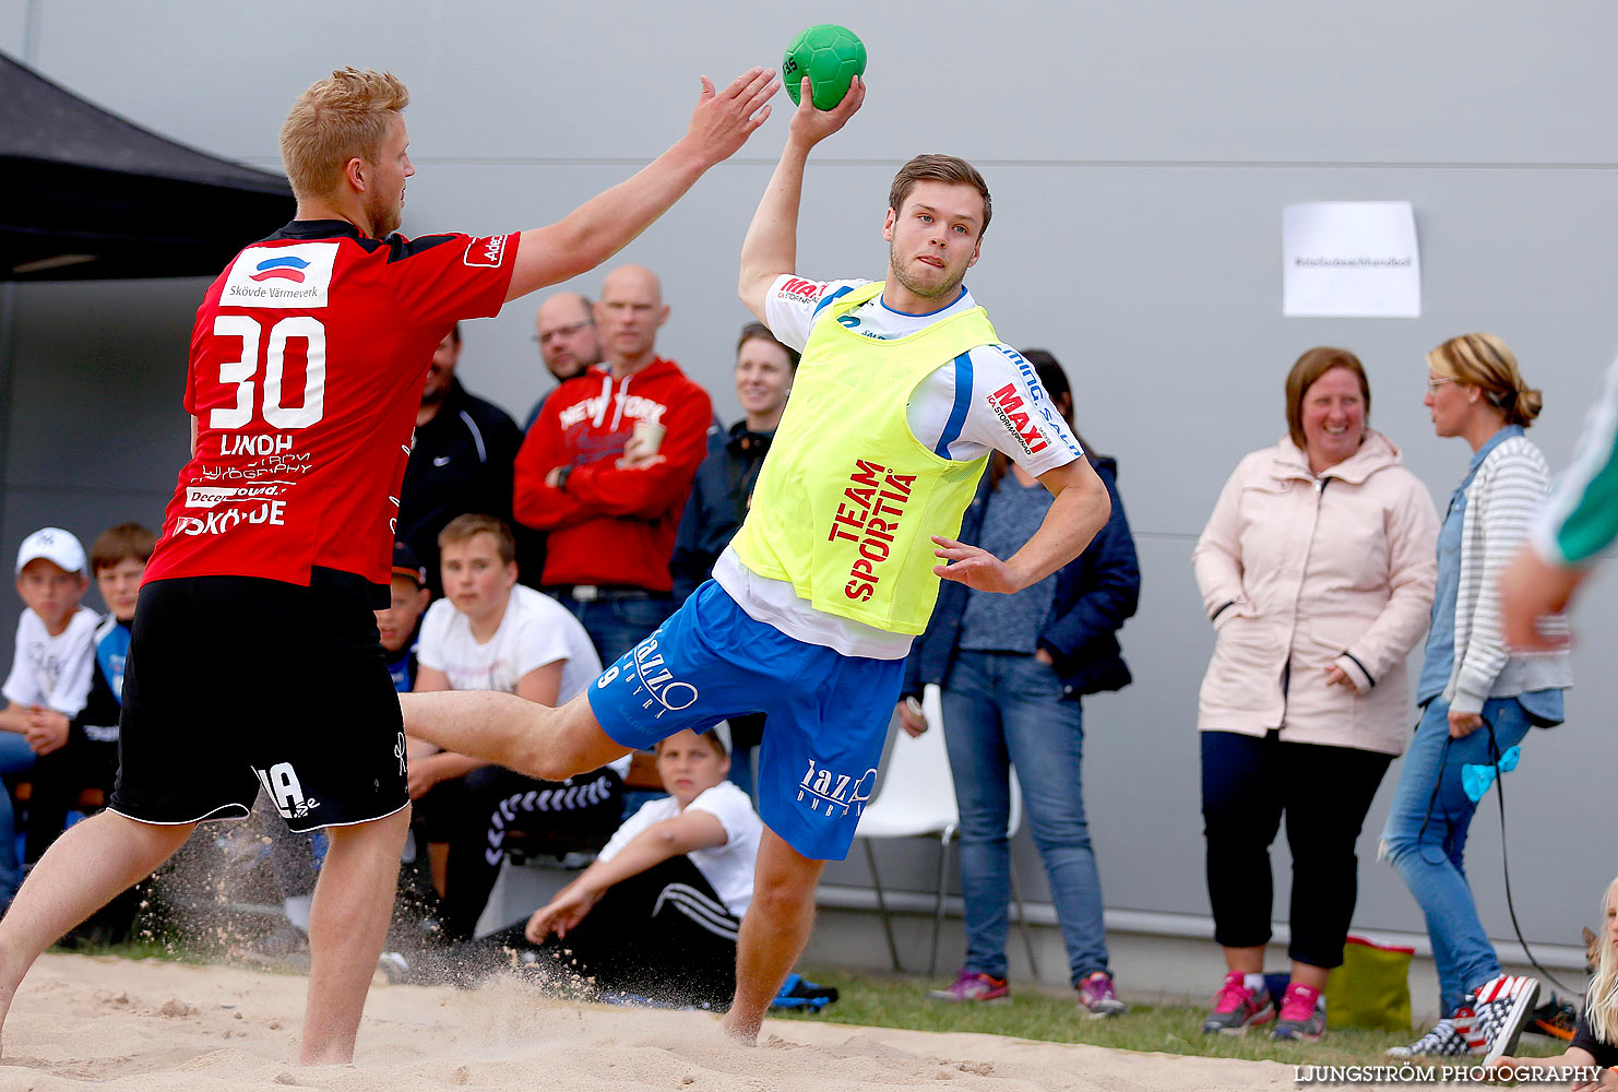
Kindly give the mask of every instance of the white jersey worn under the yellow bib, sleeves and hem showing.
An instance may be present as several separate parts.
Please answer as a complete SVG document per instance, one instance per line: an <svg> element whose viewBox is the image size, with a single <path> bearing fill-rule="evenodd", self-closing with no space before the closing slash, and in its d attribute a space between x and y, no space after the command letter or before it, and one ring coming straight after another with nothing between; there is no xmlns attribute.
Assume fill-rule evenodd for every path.
<svg viewBox="0 0 1618 1092"><path fill-rule="evenodd" d="M765 325L783 345L803 351L814 325L830 320L828 304L869 283L778 277L765 298ZM888 341L919 333L976 306L964 285L953 303L927 314L895 311L879 294L843 315L841 324L867 338ZM1021 406L1006 413L1005 406L1013 404L1013 398ZM906 419L916 438L945 458L971 461L992 450L1002 451L1034 477L1084 455L1040 387L1034 366L1010 345L981 345L963 358L940 362L911 392ZM714 566L714 579L749 618L798 641L874 660L901 660L909 654L909 634L814 610L809 600L798 597L791 582L752 573L728 547Z"/></svg>

